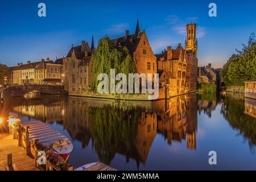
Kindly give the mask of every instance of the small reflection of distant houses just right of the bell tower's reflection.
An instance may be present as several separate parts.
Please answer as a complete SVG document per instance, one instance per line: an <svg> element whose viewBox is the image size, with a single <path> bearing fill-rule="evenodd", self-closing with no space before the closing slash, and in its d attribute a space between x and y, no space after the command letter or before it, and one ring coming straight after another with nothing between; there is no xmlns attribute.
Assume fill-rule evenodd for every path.
<svg viewBox="0 0 256 182"><path fill-rule="evenodd" d="M206 113L210 118L212 117L212 110L214 110L217 106L217 101L216 100L198 100L197 105L198 105L199 114L203 110L204 113Z"/></svg>

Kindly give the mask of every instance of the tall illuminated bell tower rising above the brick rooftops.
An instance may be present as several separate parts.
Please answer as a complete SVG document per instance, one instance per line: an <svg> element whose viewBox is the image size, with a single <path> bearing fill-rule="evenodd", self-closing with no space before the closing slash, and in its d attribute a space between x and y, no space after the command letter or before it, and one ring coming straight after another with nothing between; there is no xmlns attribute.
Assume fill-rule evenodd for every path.
<svg viewBox="0 0 256 182"><path fill-rule="evenodd" d="M197 57L196 23L187 24L187 39L185 40L186 51L192 50Z"/></svg>

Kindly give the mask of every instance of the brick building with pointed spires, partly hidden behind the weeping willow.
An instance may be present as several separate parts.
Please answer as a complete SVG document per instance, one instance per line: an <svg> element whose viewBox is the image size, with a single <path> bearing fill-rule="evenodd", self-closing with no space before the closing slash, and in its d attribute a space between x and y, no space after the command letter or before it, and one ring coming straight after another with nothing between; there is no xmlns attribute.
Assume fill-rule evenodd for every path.
<svg viewBox="0 0 256 182"><path fill-rule="evenodd" d="M112 39L116 47L124 46L130 52L135 63L137 73L152 73L150 81L154 81L154 73L157 73L156 57L148 42L146 32L137 27L135 34L129 34L126 30L125 36ZM80 46L72 47L64 58L64 88L70 95L82 96L86 94L86 90L92 86L92 68L93 61L91 59L94 42L92 45L82 41Z"/></svg>

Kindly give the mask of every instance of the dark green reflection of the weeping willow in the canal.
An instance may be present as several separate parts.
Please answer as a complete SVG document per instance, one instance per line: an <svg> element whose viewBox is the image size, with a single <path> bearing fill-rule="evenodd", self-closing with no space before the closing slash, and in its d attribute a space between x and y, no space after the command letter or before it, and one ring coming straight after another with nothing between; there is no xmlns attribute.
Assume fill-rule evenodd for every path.
<svg viewBox="0 0 256 182"><path fill-rule="evenodd" d="M116 152L139 161L134 146L141 107L90 107L93 147L101 162L110 164Z"/></svg>

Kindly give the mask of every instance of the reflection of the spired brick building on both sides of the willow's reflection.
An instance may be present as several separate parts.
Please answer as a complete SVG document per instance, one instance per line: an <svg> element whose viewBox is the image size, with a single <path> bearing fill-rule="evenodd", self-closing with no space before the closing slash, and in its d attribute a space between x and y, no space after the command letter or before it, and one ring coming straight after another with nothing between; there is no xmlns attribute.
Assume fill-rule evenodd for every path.
<svg viewBox="0 0 256 182"><path fill-rule="evenodd" d="M64 101L64 129L66 129L69 132L72 139L80 140L82 142L82 147L84 148L88 146L91 138L93 140L97 140L96 138L93 138L92 122L94 121L92 121L92 116L88 114L88 109L92 107L103 108L105 106L113 107L114 109L114 106L125 107L127 103L129 102L123 102L122 104L120 104L119 102L112 100L94 100L90 98L68 97L67 100ZM138 106L140 104L139 102L137 104L134 102L133 105ZM155 112L141 112L141 114L139 115L139 121L137 122L137 134L135 135L135 140L132 141L134 144L134 147L132 148L136 148L136 151L133 150L131 152L115 152L119 152L123 155L126 155L127 161L129 161L129 158L135 158L139 160L139 162L145 164L148 152L150 151L151 144L156 136L156 117L157 116ZM102 131L102 133L104 133L104 131ZM125 152L127 153L125 154Z"/></svg>

